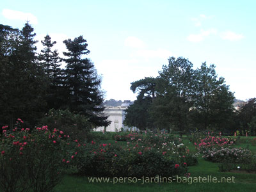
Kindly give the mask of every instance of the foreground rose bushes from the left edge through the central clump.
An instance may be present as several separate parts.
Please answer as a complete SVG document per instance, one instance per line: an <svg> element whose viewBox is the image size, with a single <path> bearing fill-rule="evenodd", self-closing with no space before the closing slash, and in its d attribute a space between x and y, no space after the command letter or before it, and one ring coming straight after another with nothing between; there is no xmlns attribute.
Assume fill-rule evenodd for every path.
<svg viewBox="0 0 256 192"><path fill-rule="evenodd" d="M127 145L83 143L63 131L3 127L0 143L0 183L11 183L16 191L40 188L51 191L63 172L99 177L173 177L188 175L197 163L182 140L168 134L127 134ZM9 173L11 177L7 177ZM33 179L38 178L38 179ZM1 185L0 184L0 185ZM20 187L22 184L23 187Z"/></svg>

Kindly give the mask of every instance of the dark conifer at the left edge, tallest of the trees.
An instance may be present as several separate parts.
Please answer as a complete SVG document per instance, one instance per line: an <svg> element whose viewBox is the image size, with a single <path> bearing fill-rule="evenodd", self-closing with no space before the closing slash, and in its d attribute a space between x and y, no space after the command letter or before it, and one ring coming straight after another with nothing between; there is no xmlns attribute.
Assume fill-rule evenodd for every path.
<svg viewBox="0 0 256 192"><path fill-rule="evenodd" d="M36 60L35 33L27 22L22 31L5 36L9 42L8 54L1 60L1 108L4 123L23 118L34 127L42 116L45 93L45 76Z"/></svg>

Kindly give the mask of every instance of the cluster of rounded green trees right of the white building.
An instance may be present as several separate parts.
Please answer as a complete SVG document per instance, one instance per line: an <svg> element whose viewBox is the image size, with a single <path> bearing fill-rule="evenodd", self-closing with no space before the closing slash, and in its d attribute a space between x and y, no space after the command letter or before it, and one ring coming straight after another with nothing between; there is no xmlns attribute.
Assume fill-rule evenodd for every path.
<svg viewBox="0 0 256 192"><path fill-rule="evenodd" d="M138 97L127 109L127 125L180 134L195 127L228 132L235 125L234 93L223 77L218 78L214 65L202 63L194 70L189 60L172 57L158 77L131 84Z"/></svg>

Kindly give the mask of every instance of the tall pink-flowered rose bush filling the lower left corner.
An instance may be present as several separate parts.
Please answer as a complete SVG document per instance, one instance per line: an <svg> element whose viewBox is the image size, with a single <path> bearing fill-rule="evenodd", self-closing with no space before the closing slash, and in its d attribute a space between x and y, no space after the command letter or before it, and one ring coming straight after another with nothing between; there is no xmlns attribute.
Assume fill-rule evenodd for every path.
<svg viewBox="0 0 256 192"><path fill-rule="evenodd" d="M22 123L20 121L20 123ZM51 191L60 182L70 159L64 134L47 126L30 131L4 126L0 140L0 189Z"/></svg>

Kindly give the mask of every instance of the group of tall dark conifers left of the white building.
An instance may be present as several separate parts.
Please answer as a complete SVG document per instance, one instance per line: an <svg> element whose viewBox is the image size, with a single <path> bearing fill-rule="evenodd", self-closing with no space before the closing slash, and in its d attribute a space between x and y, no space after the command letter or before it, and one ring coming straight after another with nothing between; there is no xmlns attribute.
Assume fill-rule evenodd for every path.
<svg viewBox="0 0 256 192"><path fill-rule="evenodd" d="M68 51L61 60L49 35L38 55L35 35L28 22L22 30L0 25L1 124L11 129L14 119L22 118L33 128L53 108L70 109L94 126L108 125L100 106L101 79L92 61L84 58L90 51L83 36L64 41ZM61 61L67 64L65 70L60 68Z"/></svg>

